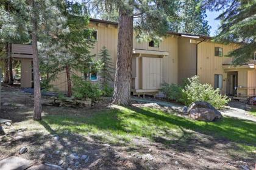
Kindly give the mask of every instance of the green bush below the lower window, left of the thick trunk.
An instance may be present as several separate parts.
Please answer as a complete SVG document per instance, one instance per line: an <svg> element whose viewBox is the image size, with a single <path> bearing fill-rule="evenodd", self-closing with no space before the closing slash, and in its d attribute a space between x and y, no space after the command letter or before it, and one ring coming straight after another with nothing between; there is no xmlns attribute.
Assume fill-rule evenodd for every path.
<svg viewBox="0 0 256 170"><path fill-rule="evenodd" d="M96 83L91 83L91 81L84 80L83 78L74 76L73 80L73 96L79 100L85 98L97 99L101 97L102 90Z"/></svg>

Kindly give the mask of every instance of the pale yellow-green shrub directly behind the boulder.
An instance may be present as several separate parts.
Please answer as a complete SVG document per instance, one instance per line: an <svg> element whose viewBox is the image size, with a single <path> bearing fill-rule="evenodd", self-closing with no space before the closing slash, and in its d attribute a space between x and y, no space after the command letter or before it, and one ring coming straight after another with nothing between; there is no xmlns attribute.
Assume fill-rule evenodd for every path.
<svg viewBox="0 0 256 170"><path fill-rule="evenodd" d="M226 95L220 94L220 89L213 89L210 84L201 84L198 76L188 78L188 82L182 90L186 96L187 106L194 101L207 101L217 109L221 109L230 101Z"/></svg>

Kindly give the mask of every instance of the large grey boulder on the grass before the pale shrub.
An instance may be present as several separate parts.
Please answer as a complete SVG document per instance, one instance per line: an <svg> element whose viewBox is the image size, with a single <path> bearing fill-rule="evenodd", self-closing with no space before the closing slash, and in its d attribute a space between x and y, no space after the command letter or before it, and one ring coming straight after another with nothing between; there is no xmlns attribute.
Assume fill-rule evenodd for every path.
<svg viewBox="0 0 256 170"><path fill-rule="evenodd" d="M196 101L188 107L188 114L194 120L214 121L222 118L221 112L206 101Z"/></svg>

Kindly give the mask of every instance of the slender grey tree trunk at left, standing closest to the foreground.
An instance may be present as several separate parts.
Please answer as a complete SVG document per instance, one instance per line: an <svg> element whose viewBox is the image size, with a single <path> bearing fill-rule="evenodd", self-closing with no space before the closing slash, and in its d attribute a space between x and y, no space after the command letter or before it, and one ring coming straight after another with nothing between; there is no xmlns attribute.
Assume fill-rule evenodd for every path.
<svg viewBox="0 0 256 170"><path fill-rule="evenodd" d="M34 0L30 0L32 7L32 49L33 49L33 71L34 71L34 120L41 120L41 87L40 87L40 74L39 74L39 60L37 49L37 11L35 9Z"/></svg>

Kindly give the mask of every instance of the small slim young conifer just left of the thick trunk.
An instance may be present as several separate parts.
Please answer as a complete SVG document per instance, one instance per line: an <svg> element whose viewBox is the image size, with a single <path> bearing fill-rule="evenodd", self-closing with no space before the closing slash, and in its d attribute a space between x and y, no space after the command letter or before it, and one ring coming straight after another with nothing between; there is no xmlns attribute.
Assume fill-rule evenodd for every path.
<svg viewBox="0 0 256 170"><path fill-rule="evenodd" d="M101 52L99 53L99 60L101 63L101 86L106 93L105 95L108 95L109 83L110 81L113 81L112 75L115 70L113 69L112 58L110 57L107 47L102 47Z"/></svg>

